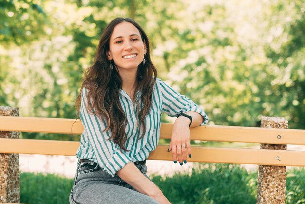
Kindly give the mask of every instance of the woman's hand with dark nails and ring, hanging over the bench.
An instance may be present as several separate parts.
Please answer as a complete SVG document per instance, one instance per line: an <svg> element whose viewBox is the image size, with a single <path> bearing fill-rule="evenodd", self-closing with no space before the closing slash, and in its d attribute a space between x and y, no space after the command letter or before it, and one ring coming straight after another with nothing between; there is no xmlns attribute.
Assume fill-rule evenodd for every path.
<svg viewBox="0 0 305 204"><path fill-rule="evenodd" d="M172 128L172 137L168 152L172 151L174 163L177 163L178 158L180 165L187 163L187 153L189 154L189 157L191 157L190 122L191 120L189 118L180 116L176 119Z"/></svg>

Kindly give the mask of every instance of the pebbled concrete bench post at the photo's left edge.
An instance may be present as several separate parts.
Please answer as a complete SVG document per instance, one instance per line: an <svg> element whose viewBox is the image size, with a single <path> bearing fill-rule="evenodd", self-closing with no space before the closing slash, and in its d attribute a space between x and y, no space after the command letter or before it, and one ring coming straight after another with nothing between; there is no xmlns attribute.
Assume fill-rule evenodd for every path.
<svg viewBox="0 0 305 204"><path fill-rule="evenodd" d="M0 115L19 116L19 108L0 106ZM0 138L19 137L19 132L0 131ZM0 153L0 203L20 203L19 154Z"/></svg>

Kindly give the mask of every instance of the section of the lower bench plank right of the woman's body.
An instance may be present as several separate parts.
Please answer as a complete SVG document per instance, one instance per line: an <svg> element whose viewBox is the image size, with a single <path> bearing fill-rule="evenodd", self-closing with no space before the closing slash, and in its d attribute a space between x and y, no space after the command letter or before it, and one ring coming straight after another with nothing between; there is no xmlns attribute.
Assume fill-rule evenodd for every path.
<svg viewBox="0 0 305 204"><path fill-rule="evenodd" d="M167 145L158 145L148 159L172 161L167 148ZM305 151L214 147L192 147L191 151L190 162L305 166Z"/></svg>

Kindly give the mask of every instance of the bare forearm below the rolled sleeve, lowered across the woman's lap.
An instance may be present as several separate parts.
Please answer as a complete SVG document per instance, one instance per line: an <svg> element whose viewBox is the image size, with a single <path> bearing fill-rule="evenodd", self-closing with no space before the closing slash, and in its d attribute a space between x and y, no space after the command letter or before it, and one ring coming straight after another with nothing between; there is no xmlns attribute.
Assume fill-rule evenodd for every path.
<svg viewBox="0 0 305 204"><path fill-rule="evenodd" d="M122 169L117 171L116 174L126 183L133 186L138 192L152 197L160 204L170 204L160 188L144 176L134 163L127 163Z"/></svg>

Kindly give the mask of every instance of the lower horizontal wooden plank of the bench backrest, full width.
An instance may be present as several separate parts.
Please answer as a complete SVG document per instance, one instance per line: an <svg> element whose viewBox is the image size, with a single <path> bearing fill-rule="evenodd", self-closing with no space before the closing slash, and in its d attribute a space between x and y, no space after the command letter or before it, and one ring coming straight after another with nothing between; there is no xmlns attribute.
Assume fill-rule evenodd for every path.
<svg viewBox="0 0 305 204"><path fill-rule="evenodd" d="M30 139L0 139L1 153L46 154L74 156L79 142ZM158 145L148 159L170 160L167 145ZM257 165L305 166L305 151L285 151L243 148L192 147L190 162L248 163ZM277 159L278 157L278 159Z"/></svg>

